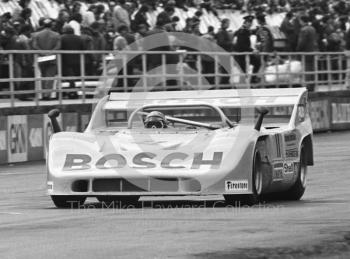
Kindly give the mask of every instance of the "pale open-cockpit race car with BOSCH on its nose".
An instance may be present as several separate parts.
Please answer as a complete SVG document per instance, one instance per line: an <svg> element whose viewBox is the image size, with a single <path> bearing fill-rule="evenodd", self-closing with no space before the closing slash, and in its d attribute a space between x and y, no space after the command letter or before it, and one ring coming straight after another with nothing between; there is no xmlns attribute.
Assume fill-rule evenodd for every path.
<svg viewBox="0 0 350 259"><path fill-rule="evenodd" d="M313 165L305 88L110 93L83 133L55 134L48 194L58 208L140 196L299 200Z"/></svg>

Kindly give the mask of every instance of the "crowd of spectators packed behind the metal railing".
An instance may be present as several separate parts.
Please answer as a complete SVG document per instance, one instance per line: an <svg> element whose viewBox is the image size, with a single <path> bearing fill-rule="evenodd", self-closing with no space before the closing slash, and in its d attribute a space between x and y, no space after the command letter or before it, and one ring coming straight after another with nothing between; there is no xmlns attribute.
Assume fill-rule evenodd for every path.
<svg viewBox="0 0 350 259"><path fill-rule="evenodd" d="M41 18L38 25L32 24L32 11L28 8L30 1L21 1L23 7L18 14L5 13L0 17L0 50L128 50L130 44L148 35L159 32L176 31L179 17L175 16L175 8L184 11L189 7L197 8L194 16L186 20L183 29L215 42L229 52L252 52L250 61L253 73L261 67L261 58L256 58L258 51L274 51L274 39L265 15L275 12L286 12L280 30L286 36L286 51L343 51L350 49L350 31L348 30L348 14L350 4L344 0L118 0L108 2L86 1L87 11L82 11L80 2L71 0L57 1L60 11L57 19ZM163 7L151 26L147 12ZM221 19L218 31L209 26L202 34L199 30L203 9L218 16L217 9L239 10L247 15L243 25L236 32L228 30L230 21ZM253 15L251 15L253 14ZM252 29L256 19L258 26ZM252 46L250 36L255 34L257 42ZM142 49L142 46L140 46ZM168 46L164 50L170 50ZM5 58L4 55L0 57ZM14 56L14 76L33 77L33 57L25 54ZM86 55L86 75L98 75L101 72L102 56ZM154 60L153 60L154 61ZM246 60L236 58L243 71ZM264 61L264 60L262 60ZM203 73L213 73L213 60L202 60ZM306 60L311 69L312 60ZM55 76L57 62L47 58L40 65L43 77ZM62 56L63 76L79 76L80 58L76 54ZM154 65L154 64L153 64ZM151 64L152 66L152 64ZM1 70L1 69L0 69ZM2 69L4 71L4 69ZM129 71L128 73L132 73ZM0 75L3 77L3 75ZM209 78L213 82L212 78ZM253 78L254 80L254 78ZM74 87L74 82L71 86ZM30 82L21 82L17 89L28 89ZM43 89L52 89L52 80L43 83ZM43 95L43 98L49 98Z"/></svg>

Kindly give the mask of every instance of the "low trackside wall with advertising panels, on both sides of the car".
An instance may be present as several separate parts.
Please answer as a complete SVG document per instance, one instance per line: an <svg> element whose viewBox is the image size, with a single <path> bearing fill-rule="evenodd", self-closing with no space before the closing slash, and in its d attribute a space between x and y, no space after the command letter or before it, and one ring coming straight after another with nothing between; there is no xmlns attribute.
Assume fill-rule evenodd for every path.
<svg viewBox="0 0 350 259"><path fill-rule="evenodd" d="M92 111L91 104L0 109L0 164L45 159L54 108L64 131L83 131ZM310 93L309 110L315 133L350 129L350 91Z"/></svg>

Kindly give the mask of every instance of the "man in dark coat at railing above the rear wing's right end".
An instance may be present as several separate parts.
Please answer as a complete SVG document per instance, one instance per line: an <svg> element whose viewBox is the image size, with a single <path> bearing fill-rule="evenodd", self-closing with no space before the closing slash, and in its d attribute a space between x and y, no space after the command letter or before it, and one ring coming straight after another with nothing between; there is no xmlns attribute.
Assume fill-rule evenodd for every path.
<svg viewBox="0 0 350 259"><path fill-rule="evenodd" d="M297 51L298 52L315 52L318 50L317 45L317 33L314 27L309 24L308 16L300 17L301 30L298 38ZM305 55L304 60L304 69L305 72L311 72L315 69L315 58L314 55ZM305 81L307 87L312 91L315 87L315 75L306 74Z"/></svg>

